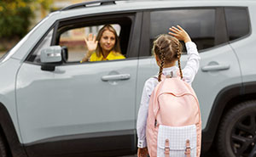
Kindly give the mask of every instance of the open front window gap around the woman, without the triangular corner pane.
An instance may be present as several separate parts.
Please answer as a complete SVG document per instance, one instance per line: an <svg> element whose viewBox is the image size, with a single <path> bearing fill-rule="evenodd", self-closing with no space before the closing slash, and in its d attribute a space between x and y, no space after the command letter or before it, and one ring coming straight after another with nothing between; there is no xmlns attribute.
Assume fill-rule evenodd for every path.
<svg viewBox="0 0 256 157"><path fill-rule="evenodd" d="M89 36L89 34L97 36L104 25L111 25L119 38L119 53L122 53L127 59L131 57L129 54L129 42L131 42L133 18L133 15L121 14L113 15L113 17L102 16L61 21L55 34L54 45L60 45L61 48L65 49L67 54L66 64L79 63L88 52L84 37Z"/></svg>

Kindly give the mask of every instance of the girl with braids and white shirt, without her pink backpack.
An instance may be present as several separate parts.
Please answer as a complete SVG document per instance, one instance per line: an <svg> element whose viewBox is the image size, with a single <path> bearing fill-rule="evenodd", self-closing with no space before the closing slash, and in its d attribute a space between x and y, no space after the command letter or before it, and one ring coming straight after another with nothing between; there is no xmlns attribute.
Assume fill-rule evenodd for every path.
<svg viewBox="0 0 256 157"><path fill-rule="evenodd" d="M158 74L158 79L153 77L149 78L143 87L141 105L137 116L138 157L148 155L146 142L148 103L154 87L156 87L158 82L161 81L161 75L167 76L170 75L171 72L176 74L178 70L183 81L186 81L191 85L195 78L195 74L199 69L200 56L197 52L195 43L191 42L188 33L184 31L182 27L177 25L177 27L172 26L172 28L170 28L169 34L172 36L160 35L154 41L154 57L157 64L160 66L160 71ZM183 70L181 70L180 65L182 45L178 40L185 42L189 54L188 62ZM178 67L176 66L176 62Z"/></svg>

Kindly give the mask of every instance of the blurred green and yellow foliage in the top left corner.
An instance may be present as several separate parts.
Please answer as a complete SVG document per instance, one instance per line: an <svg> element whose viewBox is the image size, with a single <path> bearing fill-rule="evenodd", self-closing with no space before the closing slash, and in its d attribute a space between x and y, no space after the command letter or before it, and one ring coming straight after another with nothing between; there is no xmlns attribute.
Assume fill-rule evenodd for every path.
<svg viewBox="0 0 256 157"><path fill-rule="evenodd" d="M0 0L0 39L25 36L35 6L47 9L51 3L52 0Z"/></svg>

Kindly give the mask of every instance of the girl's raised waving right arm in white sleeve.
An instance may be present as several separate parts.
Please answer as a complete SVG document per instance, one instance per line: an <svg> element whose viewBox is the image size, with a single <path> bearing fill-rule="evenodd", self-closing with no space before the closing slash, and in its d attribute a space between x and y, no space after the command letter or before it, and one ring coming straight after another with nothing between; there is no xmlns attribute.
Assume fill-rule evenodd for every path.
<svg viewBox="0 0 256 157"><path fill-rule="evenodd" d="M189 59L183 69L183 79L184 81L191 84L199 69L199 60L201 59L197 51L196 45L194 42L191 42L189 34L184 31L181 26L177 25L177 28L172 26L172 28L170 28L170 31L172 32L169 32L169 34L175 36L178 40L185 42Z"/></svg>

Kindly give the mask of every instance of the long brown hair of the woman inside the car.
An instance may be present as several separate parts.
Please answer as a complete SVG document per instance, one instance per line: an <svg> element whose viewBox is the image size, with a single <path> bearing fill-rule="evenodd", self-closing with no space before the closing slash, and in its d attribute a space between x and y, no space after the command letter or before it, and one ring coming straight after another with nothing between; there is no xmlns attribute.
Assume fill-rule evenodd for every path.
<svg viewBox="0 0 256 157"><path fill-rule="evenodd" d="M102 34L104 31L111 31L113 32L114 34L114 37L115 37L115 43L114 43L114 46L113 46L113 51L115 53L121 53L121 48L120 48L120 45L119 45L119 36L117 35L116 31L114 30L113 26L111 25L104 25L101 30L98 32L97 36L96 36L96 41L99 41L98 42L98 46L96 48L96 55L97 57L100 57L101 54L102 54L102 47L100 46L100 40L102 38ZM111 50L111 51L112 51Z"/></svg>

